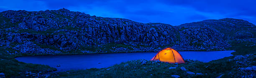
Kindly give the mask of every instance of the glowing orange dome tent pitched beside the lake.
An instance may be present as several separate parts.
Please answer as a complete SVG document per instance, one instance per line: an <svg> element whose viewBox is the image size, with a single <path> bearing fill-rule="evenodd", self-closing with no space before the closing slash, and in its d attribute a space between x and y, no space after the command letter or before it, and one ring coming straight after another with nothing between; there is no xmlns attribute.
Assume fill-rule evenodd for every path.
<svg viewBox="0 0 256 78"><path fill-rule="evenodd" d="M179 52L172 48L166 48L159 51L150 61L157 60L168 63L185 63Z"/></svg>

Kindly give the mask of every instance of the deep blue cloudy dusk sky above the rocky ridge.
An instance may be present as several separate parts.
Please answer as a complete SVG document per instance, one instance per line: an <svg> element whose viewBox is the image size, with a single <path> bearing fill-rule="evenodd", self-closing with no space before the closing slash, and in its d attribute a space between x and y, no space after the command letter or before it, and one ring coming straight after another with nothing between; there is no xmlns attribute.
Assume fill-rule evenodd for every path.
<svg viewBox="0 0 256 78"><path fill-rule="evenodd" d="M58 10L91 16L125 18L142 23L180 25L209 19L235 18L256 24L256 0L3 0L5 10Z"/></svg>

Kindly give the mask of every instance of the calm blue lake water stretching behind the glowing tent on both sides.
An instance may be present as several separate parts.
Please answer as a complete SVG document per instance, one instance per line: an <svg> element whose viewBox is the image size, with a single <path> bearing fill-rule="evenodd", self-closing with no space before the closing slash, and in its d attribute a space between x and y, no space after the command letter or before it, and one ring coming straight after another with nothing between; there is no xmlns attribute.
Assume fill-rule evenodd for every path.
<svg viewBox="0 0 256 78"><path fill-rule="evenodd" d="M202 62L232 56L234 51L179 51L183 59L193 59ZM142 53L110 53L110 54L84 54L84 55L49 55L49 56L20 56L15 59L25 63L49 65L57 71L79 70L87 68L106 68L118 63L145 59L152 59L157 52ZM56 67L60 64L60 67Z"/></svg>

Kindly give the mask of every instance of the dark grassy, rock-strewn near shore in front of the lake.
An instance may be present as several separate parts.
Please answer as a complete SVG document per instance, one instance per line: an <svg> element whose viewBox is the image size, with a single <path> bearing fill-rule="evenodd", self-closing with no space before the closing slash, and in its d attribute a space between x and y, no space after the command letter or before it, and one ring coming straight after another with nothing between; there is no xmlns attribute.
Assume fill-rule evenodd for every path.
<svg viewBox="0 0 256 78"><path fill-rule="evenodd" d="M233 52L233 55L245 55L245 54L255 54L256 46L245 46L245 44L236 44L233 45L230 49L236 50ZM6 77L24 77L26 76L27 71L31 71L32 73L47 73L50 71L55 71L56 68L51 68L45 65L32 64L32 63L23 63L14 59L16 56L24 56L24 55L10 55L5 53L4 51L11 51L9 48L0 48L0 72L5 73ZM32 56L35 54L32 54ZM31 56L31 55L28 55ZM91 68L87 70L75 70L75 71L67 71L67 72L59 72L53 73L52 76L55 77L169 77L171 75L179 75L179 76L191 76L191 77L199 77L196 75L188 75L186 71L181 71L180 67L187 68L188 71L194 73L207 73L207 75L202 75L202 77L216 77L221 75L221 73L225 73L229 76L228 73L238 73L238 71L233 68L243 67L236 63L236 61L228 61L228 59L233 59L235 56L225 57L223 59L210 61L209 63L202 63L199 61L190 62L186 64L179 64L176 69L168 69L171 66L175 66L174 64L169 63L153 63L152 61L147 61L146 65L141 65L140 60L136 61L128 61L125 63L120 63L115 66L109 67L110 70L106 70L108 68ZM255 57L250 57L250 60L253 62L249 63L249 65L256 65ZM128 65L126 65L128 64ZM126 65L126 66L125 66ZM207 67L208 66L208 67ZM207 67L207 68L206 68Z"/></svg>

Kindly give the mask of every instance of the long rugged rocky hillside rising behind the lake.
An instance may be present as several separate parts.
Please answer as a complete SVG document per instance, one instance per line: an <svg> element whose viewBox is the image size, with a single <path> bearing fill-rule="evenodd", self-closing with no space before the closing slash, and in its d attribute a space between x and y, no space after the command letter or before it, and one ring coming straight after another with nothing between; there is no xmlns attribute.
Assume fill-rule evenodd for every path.
<svg viewBox="0 0 256 78"><path fill-rule="evenodd" d="M225 18L172 26L96 17L67 9L0 12L0 47L13 54L92 53L177 50L225 50L256 43L256 26Z"/></svg>

